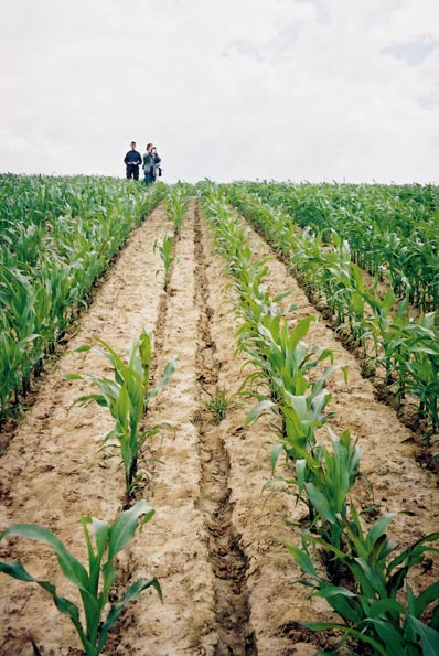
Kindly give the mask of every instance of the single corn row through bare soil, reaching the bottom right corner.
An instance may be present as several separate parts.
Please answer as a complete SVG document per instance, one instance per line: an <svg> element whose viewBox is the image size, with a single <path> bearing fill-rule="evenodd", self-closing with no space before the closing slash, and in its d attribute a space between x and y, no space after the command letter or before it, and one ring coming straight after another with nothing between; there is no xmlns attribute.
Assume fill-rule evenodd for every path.
<svg viewBox="0 0 439 656"><path fill-rule="evenodd" d="M416 595L407 576L427 552L436 550L431 542L439 534L395 555L396 544L387 535L395 513L364 528L349 501L360 474L360 448L349 431L336 435L328 428L331 449L318 440L319 429L331 417L325 381L336 368L333 353L310 348L303 341L312 316L288 321L278 307L283 294L270 298L263 283L267 262L253 256L227 197L208 184L201 193L203 212L237 292L238 348L249 355L255 369L245 381L258 400L247 422L261 413L272 416L278 438L271 451L274 474L281 460L283 466L282 474L268 484L280 483L308 508L308 528L298 531L300 546L285 546L302 570L301 582L341 617L336 623L306 625L339 632L333 653L345 653L346 644L351 648L356 644L374 656L433 656L439 647L439 585L433 582ZM329 364L323 367L324 363Z"/></svg>

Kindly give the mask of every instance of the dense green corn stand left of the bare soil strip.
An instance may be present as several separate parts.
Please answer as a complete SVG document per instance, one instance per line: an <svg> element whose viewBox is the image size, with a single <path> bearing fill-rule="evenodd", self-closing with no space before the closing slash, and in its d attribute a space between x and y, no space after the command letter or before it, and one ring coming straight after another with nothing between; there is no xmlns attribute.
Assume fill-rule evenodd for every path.
<svg viewBox="0 0 439 656"><path fill-rule="evenodd" d="M160 202L110 179L4 175L0 198L0 421L133 226Z"/></svg>

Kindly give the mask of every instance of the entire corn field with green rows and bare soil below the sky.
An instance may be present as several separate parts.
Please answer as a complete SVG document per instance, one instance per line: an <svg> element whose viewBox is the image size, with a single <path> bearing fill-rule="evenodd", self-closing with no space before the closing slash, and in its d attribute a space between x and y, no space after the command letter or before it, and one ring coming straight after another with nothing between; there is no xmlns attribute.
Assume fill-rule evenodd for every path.
<svg viewBox="0 0 439 656"><path fill-rule="evenodd" d="M438 189L0 183L0 654L437 655Z"/></svg>

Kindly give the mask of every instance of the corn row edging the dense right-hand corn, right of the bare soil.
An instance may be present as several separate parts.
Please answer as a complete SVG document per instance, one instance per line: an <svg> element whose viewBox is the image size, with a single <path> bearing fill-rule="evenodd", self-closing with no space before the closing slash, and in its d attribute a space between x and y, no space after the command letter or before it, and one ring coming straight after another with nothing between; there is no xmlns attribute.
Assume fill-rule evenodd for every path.
<svg viewBox="0 0 439 656"><path fill-rule="evenodd" d="M227 185L239 212L269 240L308 292L324 300L338 326L361 349L367 368L382 376L401 404L416 404L429 441L439 428L439 327L437 313L413 319L408 297L397 303L389 289L382 298L351 259L350 246L333 235L298 229L291 217L263 203L244 185ZM397 303L397 310L394 307Z"/></svg>

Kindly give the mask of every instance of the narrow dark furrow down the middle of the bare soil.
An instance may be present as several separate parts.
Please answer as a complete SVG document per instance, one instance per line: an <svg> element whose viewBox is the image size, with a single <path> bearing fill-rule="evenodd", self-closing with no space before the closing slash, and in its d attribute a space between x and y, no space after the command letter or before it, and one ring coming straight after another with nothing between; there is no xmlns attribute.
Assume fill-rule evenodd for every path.
<svg viewBox="0 0 439 656"><path fill-rule="evenodd" d="M195 212L195 302L199 307L199 347L196 353L200 395L215 395L218 364L210 324L212 309L207 303L205 255ZM255 633L250 624L247 590L248 559L240 548L240 536L233 525L229 473L231 461L221 431L208 426L201 410L199 453L201 461L199 507L208 534L208 558L214 573L215 615L218 643L215 656L257 656Z"/></svg>

